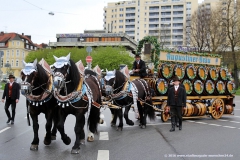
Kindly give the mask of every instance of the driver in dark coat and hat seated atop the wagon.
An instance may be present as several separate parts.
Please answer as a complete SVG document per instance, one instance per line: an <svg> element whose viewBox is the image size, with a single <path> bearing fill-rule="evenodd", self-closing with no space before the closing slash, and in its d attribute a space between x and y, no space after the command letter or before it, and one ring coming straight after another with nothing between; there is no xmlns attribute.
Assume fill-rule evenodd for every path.
<svg viewBox="0 0 240 160"><path fill-rule="evenodd" d="M147 76L145 62L141 60L141 56L139 54L135 56L135 61L133 63L133 73L134 76L140 76L141 78Z"/></svg>

